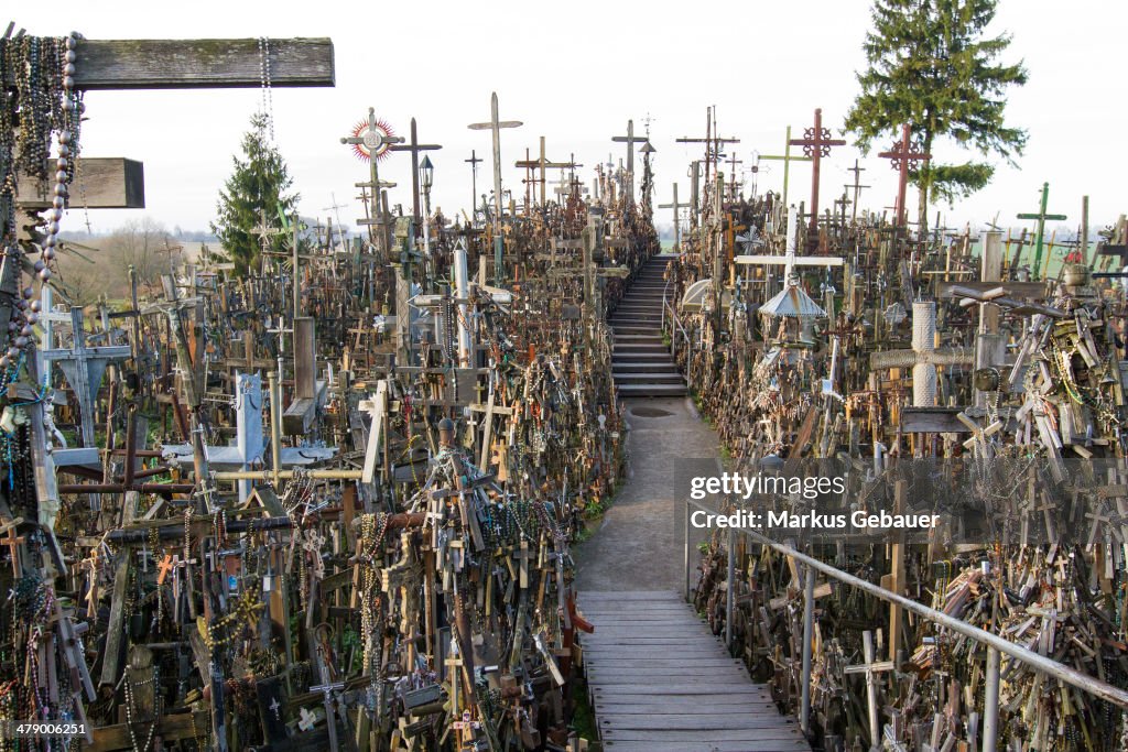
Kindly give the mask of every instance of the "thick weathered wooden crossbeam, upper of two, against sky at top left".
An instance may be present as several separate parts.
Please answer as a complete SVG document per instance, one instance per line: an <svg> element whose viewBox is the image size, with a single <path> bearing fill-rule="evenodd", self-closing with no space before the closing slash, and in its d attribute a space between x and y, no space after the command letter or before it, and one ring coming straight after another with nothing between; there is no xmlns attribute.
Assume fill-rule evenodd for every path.
<svg viewBox="0 0 1128 752"><path fill-rule="evenodd" d="M266 39L81 39L74 88L246 89L263 86L263 50L270 85L334 86L333 41L327 37ZM3 86L14 87L12 70Z"/></svg>

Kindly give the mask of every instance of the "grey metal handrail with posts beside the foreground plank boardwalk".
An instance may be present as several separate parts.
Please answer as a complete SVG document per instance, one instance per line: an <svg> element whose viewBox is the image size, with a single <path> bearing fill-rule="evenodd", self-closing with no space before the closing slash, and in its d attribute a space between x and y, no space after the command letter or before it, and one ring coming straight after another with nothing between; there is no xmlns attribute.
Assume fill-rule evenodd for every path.
<svg viewBox="0 0 1128 752"><path fill-rule="evenodd" d="M694 499L686 499L686 519L685 519L685 565L686 565L686 600L689 600L689 530L690 530L690 515L691 507L697 507L699 511L705 512L710 515L721 514L716 510L711 510L703 504L695 502ZM874 585L873 583L862 580L855 575L847 572L843 572L837 567L829 564L820 561L812 556L808 556L791 546L785 543L779 543L777 541L767 538L758 532L748 530L744 528L729 528L729 558L730 558L730 575L729 581L725 584L728 589L728 603L732 604L733 599L733 581L732 575L732 537L734 533L741 533L747 536L755 542L763 543L768 548L783 554L784 556L790 556L795 560L807 565L807 582L803 590L803 689L802 689L802 706L800 710L800 722L803 728L803 733L809 731L809 718L811 710L811 672L809 671L811 661L811 627L814 614L814 572L819 570L841 583L845 583L852 587L857 587L863 590L871 595L874 595L882 601L897 604L907 611L911 611L917 616L932 621L934 623L941 625L954 632L970 637L977 643L984 644L988 647L987 653L987 683L986 683L986 698L985 698L985 710L984 710L984 752L994 752L996 749L996 728L998 725L998 672L999 672L999 661L998 653L1006 653L1008 656L1019 661L1022 664L1048 674L1055 679L1066 682L1077 689L1094 695L1103 700L1118 705L1121 708L1128 708L1128 691L1125 691L1118 687L1113 687L1107 682L1096 679L1095 676L1090 676L1089 674L1082 673L1076 669L1070 669L1064 663L1059 663L1052 658L1045 655L1034 653L1033 651L1022 647L1015 643L999 637L998 635L993 635L985 629L979 627L972 627L971 625L951 617L943 611L937 611L931 607L924 605L923 603L917 603L916 601L906 598L899 593L895 593L891 590L885 590L880 585ZM731 614L730 614L731 616ZM731 618L729 620L731 625ZM726 632L729 631L729 625L725 626ZM726 634L726 643L730 642L731 635ZM993 653L995 655L993 655ZM876 741L875 741L876 743Z"/></svg>

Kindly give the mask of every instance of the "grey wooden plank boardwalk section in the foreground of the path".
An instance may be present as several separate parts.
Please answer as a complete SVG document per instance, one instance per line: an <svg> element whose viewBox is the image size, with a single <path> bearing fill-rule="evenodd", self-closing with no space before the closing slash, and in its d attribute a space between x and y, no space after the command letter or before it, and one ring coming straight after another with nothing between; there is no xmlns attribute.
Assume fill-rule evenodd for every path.
<svg viewBox="0 0 1128 752"><path fill-rule="evenodd" d="M582 592L605 752L810 752L764 684L673 591Z"/></svg>

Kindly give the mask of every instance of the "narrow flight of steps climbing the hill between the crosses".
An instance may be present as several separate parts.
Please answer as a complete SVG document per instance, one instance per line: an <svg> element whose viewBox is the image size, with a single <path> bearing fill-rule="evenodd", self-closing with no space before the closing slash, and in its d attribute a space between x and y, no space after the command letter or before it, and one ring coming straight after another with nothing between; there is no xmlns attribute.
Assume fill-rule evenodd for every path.
<svg viewBox="0 0 1128 752"><path fill-rule="evenodd" d="M611 375L620 397L680 397L686 381L662 344L662 273L669 256L654 256L611 313Z"/></svg>

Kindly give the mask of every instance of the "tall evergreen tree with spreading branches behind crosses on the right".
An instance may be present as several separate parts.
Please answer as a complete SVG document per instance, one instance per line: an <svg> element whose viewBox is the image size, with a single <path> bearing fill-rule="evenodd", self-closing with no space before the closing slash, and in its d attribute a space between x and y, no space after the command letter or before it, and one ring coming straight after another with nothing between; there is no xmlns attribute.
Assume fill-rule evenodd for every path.
<svg viewBox="0 0 1128 752"><path fill-rule="evenodd" d="M865 37L869 68L857 74L862 91L846 115L846 129L869 151L909 123L914 141L933 151L941 139L1007 163L1021 156L1026 132L1004 123L1006 90L1026 82L1022 63L996 59L1011 44L984 30L997 0L873 0L873 28ZM913 171L919 191L919 227L928 201L968 196L986 186L995 168L986 161L944 165L933 159Z"/></svg>

